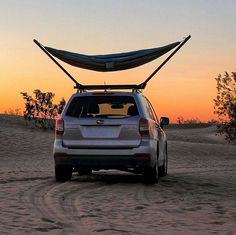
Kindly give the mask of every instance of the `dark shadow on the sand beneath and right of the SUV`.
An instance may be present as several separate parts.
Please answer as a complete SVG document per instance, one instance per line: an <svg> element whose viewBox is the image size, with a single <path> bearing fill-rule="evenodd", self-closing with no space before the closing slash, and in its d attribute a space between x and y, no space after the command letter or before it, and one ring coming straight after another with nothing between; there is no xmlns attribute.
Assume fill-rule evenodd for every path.
<svg viewBox="0 0 236 235"><path fill-rule="evenodd" d="M224 184L212 182L212 178L207 175L190 174L169 174L159 178L157 184L146 184L141 174L133 174L122 171L102 171L93 172L91 175L78 176L73 174L72 182L95 183L113 185L113 184L143 184L149 187L162 189L163 192L172 191L173 194L219 194L227 191ZM229 184L228 184L229 187ZM223 193L224 194L224 193Z"/></svg>

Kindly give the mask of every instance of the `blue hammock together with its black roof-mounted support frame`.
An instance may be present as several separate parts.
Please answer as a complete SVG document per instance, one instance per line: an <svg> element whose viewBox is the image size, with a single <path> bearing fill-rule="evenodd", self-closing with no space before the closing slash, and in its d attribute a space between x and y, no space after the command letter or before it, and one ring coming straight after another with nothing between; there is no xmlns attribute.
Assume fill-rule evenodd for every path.
<svg viewBox="0 0 236 235"><path fill-rule="evenodd" d="M144 89L147 83L155 76L155 74L171 59L171 57L191 38L191 35L186 37L181 42L175 42L163 47L144 49L138 51L131 51L126 53L117 53L109 55L83 55L69 51L58 50L51 47L43 46L37 40L34 42L40 49L42 49L47 56L75 83L78 90L95 90L95 89ZM175 48L176 47L176 48ZM128 84L128 85L82 85L80 84L53 56L58 59L84 69L109 72L131 69L164 55L168 51L175 50L152 72L152 74L144 80L141 84Z"/></svg>

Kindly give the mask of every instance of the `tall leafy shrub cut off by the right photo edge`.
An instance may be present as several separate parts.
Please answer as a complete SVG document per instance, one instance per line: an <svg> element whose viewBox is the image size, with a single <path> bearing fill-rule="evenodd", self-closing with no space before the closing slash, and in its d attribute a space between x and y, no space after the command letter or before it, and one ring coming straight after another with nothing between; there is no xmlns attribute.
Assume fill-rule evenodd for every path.
<svg viewBox="0 0 236 235"><path fill-rule="evenodd" d="M218 133L224 134L226 140L236 139L236 72L225 72L215 78L217 96L214 99L214 113L218 115Z"/></svg>

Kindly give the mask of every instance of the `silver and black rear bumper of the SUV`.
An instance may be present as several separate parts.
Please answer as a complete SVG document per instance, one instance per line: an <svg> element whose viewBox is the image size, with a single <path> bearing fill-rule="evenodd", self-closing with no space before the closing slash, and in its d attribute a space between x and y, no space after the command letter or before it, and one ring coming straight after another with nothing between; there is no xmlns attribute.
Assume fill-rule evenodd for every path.
<svg viewBox="0 0 236 235"><path fill-rule="evenodd" d="M92 169L142 169L153 165L149 142L132 149L68 149L54 142L55 165Z"/></svg>

